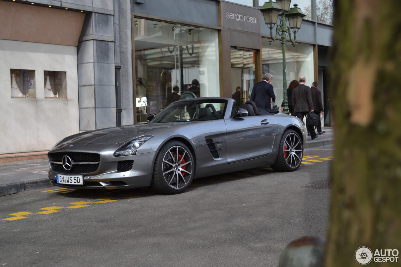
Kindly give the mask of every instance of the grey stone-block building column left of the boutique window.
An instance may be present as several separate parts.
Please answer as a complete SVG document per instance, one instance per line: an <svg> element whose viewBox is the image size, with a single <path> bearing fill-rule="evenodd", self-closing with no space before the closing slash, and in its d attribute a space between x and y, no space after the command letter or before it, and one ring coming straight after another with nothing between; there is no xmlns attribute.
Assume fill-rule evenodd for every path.
<svg viewBox="0 0 401 267"><path fill-rule="evenodd" d="M79 130L115 126L113 15L87 13L77 59Z"/></svg>

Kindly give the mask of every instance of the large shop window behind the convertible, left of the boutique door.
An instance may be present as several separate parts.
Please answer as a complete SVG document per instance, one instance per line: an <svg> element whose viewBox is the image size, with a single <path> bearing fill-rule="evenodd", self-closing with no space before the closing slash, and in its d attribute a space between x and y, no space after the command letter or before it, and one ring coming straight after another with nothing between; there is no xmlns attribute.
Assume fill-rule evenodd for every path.
<svg viewBox="0 0 401 267"><path fill-rule="evenodd" d="M134 38L137 122L186 91L220 95L217 30L136 19Z"/></svg>

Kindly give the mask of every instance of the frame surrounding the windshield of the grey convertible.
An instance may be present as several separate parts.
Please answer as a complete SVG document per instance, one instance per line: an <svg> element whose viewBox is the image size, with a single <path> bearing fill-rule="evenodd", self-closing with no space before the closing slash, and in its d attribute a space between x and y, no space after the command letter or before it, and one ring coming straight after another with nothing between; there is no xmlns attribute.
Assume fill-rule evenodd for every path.
<svg viewBox="0 0 401 267"><path fill-rule="evenodd" d="M186 119L182 119L182 120L175 120L175 121L161 121L162 119L164 119L165 117L167 117L168 114L170 114L170 112L174 109L176 109L177 107L188 107L191 105L200 105L200 104L208 104L208 103L224 103L224 109L223 109L223 113L221 115L220 119L224 119L225 118L225 114L227 111L227 106L229 104L229 101L227 99L218 99L218 98L213 98L213 99L196 99L196 98L191 98L191 99L186 99L184 101L176 101L171 103L170 105L168 105L165 109L163 109L162 111L160 111L159 114L156 115L156 117L154 117L154 119L152 119L152 121L149 121L149 123L172 123L172 122L192 122L191 120L186 120ZM215 120L219 120L219 119L215 119ZM193 121L199 121L199 120L193 120ZM212 120L204 120L204 121L212 121Z"/></svg>

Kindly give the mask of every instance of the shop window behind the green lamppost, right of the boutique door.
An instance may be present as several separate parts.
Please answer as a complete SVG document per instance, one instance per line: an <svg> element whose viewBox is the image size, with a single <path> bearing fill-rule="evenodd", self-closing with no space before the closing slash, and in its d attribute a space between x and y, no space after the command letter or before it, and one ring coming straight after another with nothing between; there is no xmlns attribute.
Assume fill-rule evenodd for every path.
<svg viewBox="0 0 401 267"><path fill-rule="evenodd" d="M278 107L283 101L283 55L281 42L271 42L270 39L262 38L262 73L273 75L271 85L273 85L276 103ZM292 80L298 80L300 76L306 77L306 85L310 86L314 82L313 70L313 45L295 44L286 45L286 81L287 87Z"/></svg>

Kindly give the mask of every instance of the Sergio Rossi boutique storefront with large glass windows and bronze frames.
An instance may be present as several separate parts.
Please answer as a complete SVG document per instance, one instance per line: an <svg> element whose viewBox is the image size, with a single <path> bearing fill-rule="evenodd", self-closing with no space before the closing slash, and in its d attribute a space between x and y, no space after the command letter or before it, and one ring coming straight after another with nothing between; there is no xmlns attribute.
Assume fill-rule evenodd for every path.
<svg viewBox="0 0 401 267"><path fill-rule="evenodd" d="M132 36L135 122L168 105L173 87L178 95L193 90L201 97L231 97L241 87L241 102L249 100L262 74L273 75L277 105L283 101L283 60L279 40L252 1L241 4L198 0L133 1ZM248 1L249 2L249 1ZM263 3L261 3L263 4ZM318 80L314 24L304 20L297 43L286 46L287 84L300 75L307 84ZM177 91L176 91L177 92Z"/></svg>

